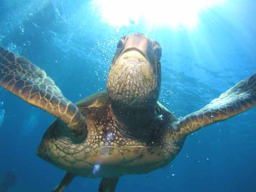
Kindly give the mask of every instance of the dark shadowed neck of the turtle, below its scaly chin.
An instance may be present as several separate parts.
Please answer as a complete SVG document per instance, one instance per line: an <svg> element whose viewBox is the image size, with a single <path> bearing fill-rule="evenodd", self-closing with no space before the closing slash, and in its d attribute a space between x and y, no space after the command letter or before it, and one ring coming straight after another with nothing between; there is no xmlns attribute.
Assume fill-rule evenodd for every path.
<svg viewBox="0 0 256 192"><path fill-rule="evenodd" d="M120 132L127 137L148 138L154 128L156 106L147 109L115 108L110 104L112 118L119 126Z"/></svg>

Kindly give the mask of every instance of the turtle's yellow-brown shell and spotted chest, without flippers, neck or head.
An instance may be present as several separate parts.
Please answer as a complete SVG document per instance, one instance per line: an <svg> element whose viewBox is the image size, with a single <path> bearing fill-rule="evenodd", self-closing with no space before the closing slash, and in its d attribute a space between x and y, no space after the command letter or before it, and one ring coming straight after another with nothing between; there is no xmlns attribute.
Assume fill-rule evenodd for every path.
<svg viewBox="0 0 256 192"><path fill-rule="evenodd" d="M85 117L86 139L76 143L70 139L65 125L56 120L37 150L41 158L68 172L82 177L143 174L165 166L181 149L174 143L177 138L172 132L158 131L152 140L122 135L111 118L106 91L91 95L76 105ZM167 110L158 106L159 112Z"/></svg>

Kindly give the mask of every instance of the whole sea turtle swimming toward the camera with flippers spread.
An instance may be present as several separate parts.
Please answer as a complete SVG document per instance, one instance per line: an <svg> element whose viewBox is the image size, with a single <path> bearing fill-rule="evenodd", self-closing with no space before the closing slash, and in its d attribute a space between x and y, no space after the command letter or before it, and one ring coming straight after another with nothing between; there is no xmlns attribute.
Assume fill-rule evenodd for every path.
<svg viewBox="0 0 256 192"><path fill-rule="evenodd" d="M63 191L75 176L100 177L99 191L114 192L120 176L166 166L189 134L256 105L254 74L178 120L157 101L161 54L159 43L144 34L122 37L107 90L73 104L45 71L0 48L0 85L57 117L37 149L39 157L67 171L53 192Z"/></svg>

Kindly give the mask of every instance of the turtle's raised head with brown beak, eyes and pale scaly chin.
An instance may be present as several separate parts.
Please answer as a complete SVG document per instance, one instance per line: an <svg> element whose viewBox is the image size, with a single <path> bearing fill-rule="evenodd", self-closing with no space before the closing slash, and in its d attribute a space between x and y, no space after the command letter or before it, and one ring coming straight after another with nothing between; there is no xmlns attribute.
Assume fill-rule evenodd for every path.
<svg viewBox="0 0 256 192"><path fill-rule="evenodd" d="M155 106L161 84L161 54L159 43L142 33L120 39L107 80L113 106L135 110Z"/></svg>

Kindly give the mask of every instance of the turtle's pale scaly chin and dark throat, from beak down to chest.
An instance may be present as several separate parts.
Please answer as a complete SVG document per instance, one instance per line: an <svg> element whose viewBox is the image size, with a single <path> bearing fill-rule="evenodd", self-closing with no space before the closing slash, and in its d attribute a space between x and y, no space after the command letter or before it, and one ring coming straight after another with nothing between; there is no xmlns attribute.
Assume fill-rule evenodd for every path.
<svg viewBox="0 0 256 192"><path fill-rule="evenodd" d="M126 136L143 138L150 134L160 89L157 77L146 56L133 49L112 64L107 80L109 111Z"/></svg>

